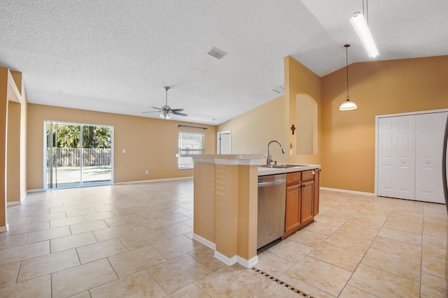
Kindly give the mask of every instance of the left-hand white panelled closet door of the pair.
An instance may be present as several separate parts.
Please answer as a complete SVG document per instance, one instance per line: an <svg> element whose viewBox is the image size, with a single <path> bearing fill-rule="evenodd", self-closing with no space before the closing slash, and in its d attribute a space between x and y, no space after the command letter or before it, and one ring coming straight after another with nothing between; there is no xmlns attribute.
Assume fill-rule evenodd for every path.
<svg viewBox="0 0 448 298"><path fill-rule="evenodd" d="M384 197L415 198L415 116L379 118L378 186Z"/></svg>

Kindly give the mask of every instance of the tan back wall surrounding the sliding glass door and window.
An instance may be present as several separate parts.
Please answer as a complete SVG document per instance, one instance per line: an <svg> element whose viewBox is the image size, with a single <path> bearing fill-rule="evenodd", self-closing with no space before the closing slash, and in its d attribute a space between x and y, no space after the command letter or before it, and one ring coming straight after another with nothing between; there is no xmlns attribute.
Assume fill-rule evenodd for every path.
<svg viewBox="0 0 448 298"><path fill-rule="evenodd" d="M216 152L216 126L179 128L186 122L133 117L48 105L28 105L27 188L43 188L43 121L67 121L113 126L113 182L193 177L193 170L179 170L179 131L205 134L205 151ZM126 153L123 154L123 149ZM149 174L145 174L148 170Z"/></svg>

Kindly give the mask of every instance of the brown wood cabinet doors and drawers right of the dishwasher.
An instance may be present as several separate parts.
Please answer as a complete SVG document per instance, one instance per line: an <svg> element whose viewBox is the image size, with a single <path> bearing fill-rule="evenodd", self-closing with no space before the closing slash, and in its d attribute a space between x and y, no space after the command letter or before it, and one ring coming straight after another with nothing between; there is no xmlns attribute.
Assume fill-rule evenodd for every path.
<svg viewBox="0 0 448 298"><path fill-rule="evenodd" d="M314 200L318 193L316 173L318 169L286 174L285 233L282 239L311 223L318 214L318 202Z"/></svg>

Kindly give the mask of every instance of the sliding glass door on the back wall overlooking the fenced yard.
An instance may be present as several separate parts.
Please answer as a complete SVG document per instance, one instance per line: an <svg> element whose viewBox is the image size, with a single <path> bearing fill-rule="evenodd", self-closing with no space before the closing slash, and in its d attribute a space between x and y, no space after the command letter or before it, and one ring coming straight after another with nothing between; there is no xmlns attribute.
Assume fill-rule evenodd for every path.
<svg viewBox="0 0 448 298"><path fill-rule="evenodd" d="M111 126L45 121L45 189L112 183Z"/></svg>

